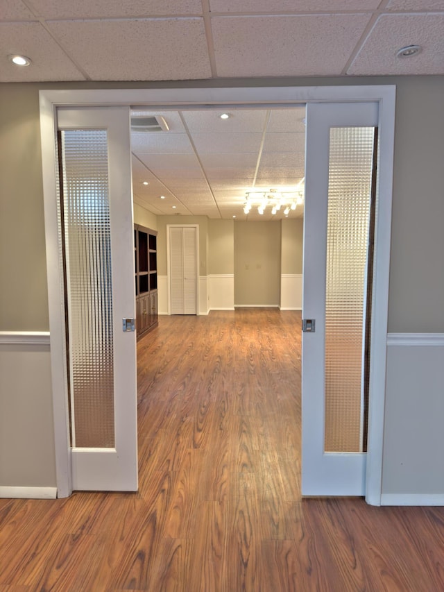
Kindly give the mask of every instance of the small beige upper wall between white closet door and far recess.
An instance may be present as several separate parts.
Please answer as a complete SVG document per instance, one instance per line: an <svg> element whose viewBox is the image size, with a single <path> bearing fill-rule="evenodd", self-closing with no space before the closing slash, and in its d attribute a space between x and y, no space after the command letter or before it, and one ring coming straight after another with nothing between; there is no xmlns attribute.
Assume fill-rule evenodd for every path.
<svg viewBox="0 0 444 592"><path fill-rule="evenodd" d="M234 221L208 220L208 273L234 273Z"/></svg>

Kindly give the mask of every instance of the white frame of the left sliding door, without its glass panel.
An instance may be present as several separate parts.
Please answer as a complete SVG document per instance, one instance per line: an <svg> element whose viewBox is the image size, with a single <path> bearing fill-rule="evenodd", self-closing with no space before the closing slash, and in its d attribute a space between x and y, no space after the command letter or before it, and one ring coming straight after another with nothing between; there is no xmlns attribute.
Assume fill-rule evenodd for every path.
<svg viewBox="0 0 444 592"><path fill-rule="evenodd" d="M137 491L136 339L135 332L123 332L122 323L123 318L135 318L129 117L129 109L126 107L58 110L60 130L106 130L108 139L114 447L76 447L73 412L71 483L72 489L77 490ZM128 248L121 248L122 245L127 245ZM67 292L68 313L71 319L71 294L69 289ZM71 330L69 335L72 335ZM72 371L69 374L72 377ZM71 403L71 408L74 409L74 402Z"/></svg>

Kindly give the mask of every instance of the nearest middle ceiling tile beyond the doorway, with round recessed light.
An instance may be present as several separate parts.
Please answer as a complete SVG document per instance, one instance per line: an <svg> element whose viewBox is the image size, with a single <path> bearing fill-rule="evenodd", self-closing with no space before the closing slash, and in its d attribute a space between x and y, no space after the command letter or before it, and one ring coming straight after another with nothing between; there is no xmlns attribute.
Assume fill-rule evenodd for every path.
<svg viewBox="0 0 444 592"><path fill-rule="evenodd" d="M227 108L230 117L221 119L224 111L183 111L182 115L191 133L262 133L265 125L266 111L241 110Z"/></svg>

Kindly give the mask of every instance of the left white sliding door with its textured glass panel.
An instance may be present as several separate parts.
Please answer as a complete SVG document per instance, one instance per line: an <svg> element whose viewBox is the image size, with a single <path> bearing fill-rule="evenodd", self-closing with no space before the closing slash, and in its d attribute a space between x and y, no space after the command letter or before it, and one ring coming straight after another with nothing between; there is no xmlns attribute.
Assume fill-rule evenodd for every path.
<svg viewBox="0 0 444 592"><path fill-rule="evenodd" d="M59 108L58 130L72 489L136 491L129 108Z"/></svg>

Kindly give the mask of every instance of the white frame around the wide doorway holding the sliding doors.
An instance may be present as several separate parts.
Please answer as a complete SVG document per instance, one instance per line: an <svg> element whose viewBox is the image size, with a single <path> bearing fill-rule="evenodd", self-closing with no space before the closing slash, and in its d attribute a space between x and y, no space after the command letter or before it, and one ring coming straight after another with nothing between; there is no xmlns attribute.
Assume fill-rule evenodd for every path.
<svg viewBox="0 0 444 592"><path fill-rule="evenodd" d="M58 106L143 105L144 108L178 108L180 106L180 108L198 109L207 108L208 105L217 105L220 108L226 108L228 105L248 108L264 108L266 106L282 108L295 103L307 102L377 101L379 103L379 185L377 187L375 227L366 500L372 505L380 505L395 137L395 86L40 90L39 94L56 477L59 497L66 497L71 493L71 459L64 356L64 307L61 291L63 284L57 247L57 160L54 146Z"/></svg>

